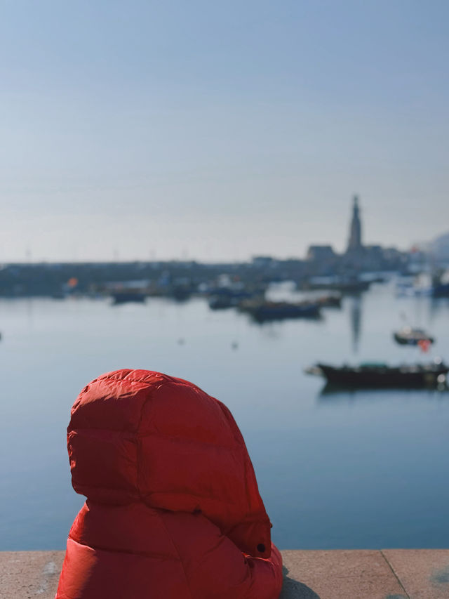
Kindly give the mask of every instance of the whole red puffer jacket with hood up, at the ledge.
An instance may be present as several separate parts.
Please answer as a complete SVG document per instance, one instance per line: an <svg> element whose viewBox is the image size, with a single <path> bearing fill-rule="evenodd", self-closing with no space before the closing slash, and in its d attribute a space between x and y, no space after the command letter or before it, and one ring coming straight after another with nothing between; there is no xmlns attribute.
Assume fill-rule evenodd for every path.
<svg viewBox="0 0 449 599"><path fill-rule="evenodd" d="M282 560L224 404L147 370L104 374L72 407L76 516L55 599L276 599Z"/></svg>

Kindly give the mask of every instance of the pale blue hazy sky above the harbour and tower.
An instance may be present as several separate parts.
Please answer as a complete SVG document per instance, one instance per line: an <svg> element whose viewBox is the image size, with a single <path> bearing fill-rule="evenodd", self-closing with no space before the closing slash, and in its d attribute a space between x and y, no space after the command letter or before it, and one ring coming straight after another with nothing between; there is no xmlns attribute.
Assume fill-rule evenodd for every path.
<svg viewBox="0 0 449 599"><path fill-rule="evenodd" d="M449 230L447 0L0 0L0 261Z"/></svg>

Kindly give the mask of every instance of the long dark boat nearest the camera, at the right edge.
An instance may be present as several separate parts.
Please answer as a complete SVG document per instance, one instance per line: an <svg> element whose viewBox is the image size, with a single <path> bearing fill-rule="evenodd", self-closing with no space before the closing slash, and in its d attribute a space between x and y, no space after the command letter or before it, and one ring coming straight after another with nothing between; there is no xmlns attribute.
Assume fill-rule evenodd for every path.
<svg viewBox="0 0 449 599"><path fill-rule="evenodd" d="M383 363L363 363L342 367L316 364L306 369L328 383L347 388L423 388L445 385L449 367L436 359L429 364L401 364L391 367Z"/></svg>

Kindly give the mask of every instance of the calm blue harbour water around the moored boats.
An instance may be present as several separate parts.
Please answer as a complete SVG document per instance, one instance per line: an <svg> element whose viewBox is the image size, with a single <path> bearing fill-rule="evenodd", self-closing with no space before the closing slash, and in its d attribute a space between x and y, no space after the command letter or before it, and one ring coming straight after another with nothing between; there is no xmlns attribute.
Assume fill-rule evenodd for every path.
<svg viewBox="0 0 449 599"><path fill-rule="evenodd" d="M395 298L391 286L320 322L262 327L201 299L0 301L0 550L64 548L83 503L69 479L69 409L121 367L189 379L229 406L281 548L447 547L449 393L323 395L302 371L416 360L391 338L401 312L437 337L430 357L449 359L449 302Z"/></svg>

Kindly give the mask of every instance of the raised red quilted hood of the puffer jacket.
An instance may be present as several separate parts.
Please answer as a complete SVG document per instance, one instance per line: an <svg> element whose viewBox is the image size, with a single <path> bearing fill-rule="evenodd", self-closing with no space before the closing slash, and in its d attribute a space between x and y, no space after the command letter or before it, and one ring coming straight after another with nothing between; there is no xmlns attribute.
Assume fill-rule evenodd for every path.
<svg viewBox="0 0 449 599"><path fill-rule="evenodd" d="M269 518L229 409L188 381L123 369L84 388L67 428L72 485L88 500L203 513L267 558Z"/></svg>

